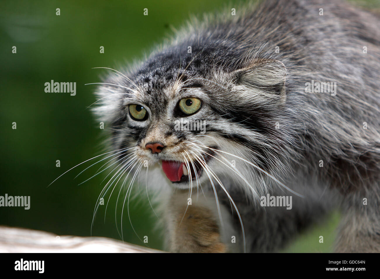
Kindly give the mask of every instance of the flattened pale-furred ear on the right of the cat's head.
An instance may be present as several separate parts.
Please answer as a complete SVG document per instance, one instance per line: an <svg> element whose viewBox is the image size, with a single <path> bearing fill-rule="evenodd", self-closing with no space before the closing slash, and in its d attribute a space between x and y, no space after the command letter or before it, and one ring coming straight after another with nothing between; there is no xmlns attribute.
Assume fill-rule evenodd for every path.
<svg viewBox="0 0 380 279"><path fill-rule="evenodd" d="M263 59L257 61L252 66L234 71L233 79L238 85L245 85L285 97L287 69L279 60Z"/></svg>

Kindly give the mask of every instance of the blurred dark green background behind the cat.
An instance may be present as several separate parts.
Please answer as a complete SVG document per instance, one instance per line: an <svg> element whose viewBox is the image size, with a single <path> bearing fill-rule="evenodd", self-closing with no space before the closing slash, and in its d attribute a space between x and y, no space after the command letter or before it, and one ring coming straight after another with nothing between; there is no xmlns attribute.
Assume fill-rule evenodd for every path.
<svg viewBox="0 0 380 279"><path fill-rule="evenodd" d="M190 14L213 12L228 1L4 1L1 14L1 177L0 195L31 197L30 210L0 207L0 225L25 227L57 235L89 236L93 209L104 186L101 173L78 186L98 168L79 178L79 166L47 185L66 170L86 161L103 149L102 133L87 106L96 99L92 92L105 70L123 61L144 58L171 27L184 24ZM231 2L233 3L233 2ZM367 2L379 7L378 1ZM227 7L233 7L229 4ZM60 16L56 15L60 8ZM148 16L143 9L148 8ZM230 9L230 8L229 8ZM17 53L12 53L12 47ZM100 54L100 46L105 53ZM76 96L45 93L44 83L76 82ZM17 129L12 129L12 123ZM60 160L60 167L56 167ZM100 167L101 165L99 165ZM146 194L130 200L131 223L123 215L124 241L161 249L160 233L153 230L157 217ZM104 221L101 206L92 235L120 239L115 225L117 195L111 197ZM107 200L108 196L106 196ZM121 203L118 206L121 212ZM120 228L121 215L117 214ZM332 214L291 244L285 252L329 252L339 214ZM324 243L318 237L324 236Z"/></svg>

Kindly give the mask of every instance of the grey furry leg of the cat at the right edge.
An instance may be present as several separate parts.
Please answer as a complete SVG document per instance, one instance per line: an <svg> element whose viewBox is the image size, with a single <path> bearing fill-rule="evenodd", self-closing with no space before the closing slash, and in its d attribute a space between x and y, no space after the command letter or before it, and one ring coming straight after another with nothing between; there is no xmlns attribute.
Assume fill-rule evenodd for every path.
<svg viewBox="0 0 380 279"><path fill-rule="evenodd" d="M342 208L336 252L380 252L380 197L375 191L351 193Z"/></svg>

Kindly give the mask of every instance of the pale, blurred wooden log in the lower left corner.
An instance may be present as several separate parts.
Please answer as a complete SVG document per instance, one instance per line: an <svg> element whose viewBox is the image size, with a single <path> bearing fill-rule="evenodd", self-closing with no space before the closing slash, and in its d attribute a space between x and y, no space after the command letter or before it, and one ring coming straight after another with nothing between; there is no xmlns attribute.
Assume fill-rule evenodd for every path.
<svg viewBox="0 0 380 279"><path fill-rule="evenodd" d="M0 253L159 253L162 251L105 237L57 236L0 226Z"/></svg>

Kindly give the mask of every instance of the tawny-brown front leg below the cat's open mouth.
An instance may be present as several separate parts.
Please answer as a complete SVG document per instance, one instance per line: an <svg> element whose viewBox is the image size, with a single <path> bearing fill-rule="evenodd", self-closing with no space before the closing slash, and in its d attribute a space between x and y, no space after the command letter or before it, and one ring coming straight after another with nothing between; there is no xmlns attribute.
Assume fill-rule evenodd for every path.
<svg viewBox="0 0 380 279"><path fill-rule="evenodd" d="M168 200L166 246L170 252L232 252L225 239L231 234L226 229L232 229L231 218L221 205L222 228L215 198L206 196L200 192L197 199L193 193L189 199L188 191L176 191Z"/></svg>

